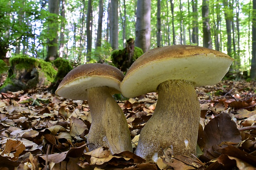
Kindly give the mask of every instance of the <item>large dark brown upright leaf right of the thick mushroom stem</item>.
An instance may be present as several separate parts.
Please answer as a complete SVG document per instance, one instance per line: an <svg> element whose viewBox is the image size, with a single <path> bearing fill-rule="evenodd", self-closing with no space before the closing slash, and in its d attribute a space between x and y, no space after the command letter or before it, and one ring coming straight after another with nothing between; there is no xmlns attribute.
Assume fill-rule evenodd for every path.
<svg viewBox="0 0 256 170"><path fill-rule="evenodd" d="M213 145L220 145L222 142L242 142L236 123L226 113L214 117L208 124L206 124L204 128L204 136L206 150Z"/></svg>

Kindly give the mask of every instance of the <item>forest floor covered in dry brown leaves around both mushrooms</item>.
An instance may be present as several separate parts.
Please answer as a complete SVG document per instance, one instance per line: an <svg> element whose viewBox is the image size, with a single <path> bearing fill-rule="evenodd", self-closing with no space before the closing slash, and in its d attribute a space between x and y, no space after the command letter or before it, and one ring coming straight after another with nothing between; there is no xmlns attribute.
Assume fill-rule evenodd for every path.
<svg viewBox="0 0 256 170"><path fill-rule="evenodd" d="M131 152L88 152L87 101L64 99L47 88L0 94L0 170L188 170L256 169L256 82L224 80L197 87L201 105L197 156L159 157L146 163ZM140 130L152 116L157 94L117 101L135 149ZM204 130L203 130L204 129ZM201 155L201 156L200 156ZM2 167L2 168L1 168Z"/></svg>

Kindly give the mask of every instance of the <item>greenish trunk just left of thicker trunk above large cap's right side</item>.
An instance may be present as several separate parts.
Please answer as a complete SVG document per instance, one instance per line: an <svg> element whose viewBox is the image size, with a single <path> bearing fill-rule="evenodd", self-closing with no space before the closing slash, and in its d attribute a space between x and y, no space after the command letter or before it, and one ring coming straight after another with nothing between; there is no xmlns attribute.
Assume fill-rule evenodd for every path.
<svg viewBox="0 0 256 170"><path fill-rule="evenodd" d="M192 43L199 45L197 0L192 0Z"/></svg>

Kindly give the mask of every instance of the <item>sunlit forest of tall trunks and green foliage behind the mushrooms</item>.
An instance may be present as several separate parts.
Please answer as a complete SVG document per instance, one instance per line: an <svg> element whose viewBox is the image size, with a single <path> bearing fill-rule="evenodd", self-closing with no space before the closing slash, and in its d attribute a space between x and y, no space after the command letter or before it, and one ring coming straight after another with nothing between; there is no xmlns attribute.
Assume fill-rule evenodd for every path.
<svg viewBox="0 0 256 170"><path fill-rule="evenodd" d="M0 0L0 59L108 63L129 38L143 52L213 48L235 59L230 71L256 78L256 0Z"/></svg>

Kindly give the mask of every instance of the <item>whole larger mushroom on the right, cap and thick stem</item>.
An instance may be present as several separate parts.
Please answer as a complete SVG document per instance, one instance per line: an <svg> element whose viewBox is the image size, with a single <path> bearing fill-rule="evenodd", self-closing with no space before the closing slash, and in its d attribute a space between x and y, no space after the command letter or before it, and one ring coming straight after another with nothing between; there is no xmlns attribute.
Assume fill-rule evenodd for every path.
<svg viewBox="0 0 256 170"><path fill-rule="evenodd" d="M164 152L195 154L200 105L194 87L218 83L232 61L219 51L189 45L154 48L140 56L123 78L121 92L128 98L148 92L159 96L135 154L150 162Z"/></svg>

